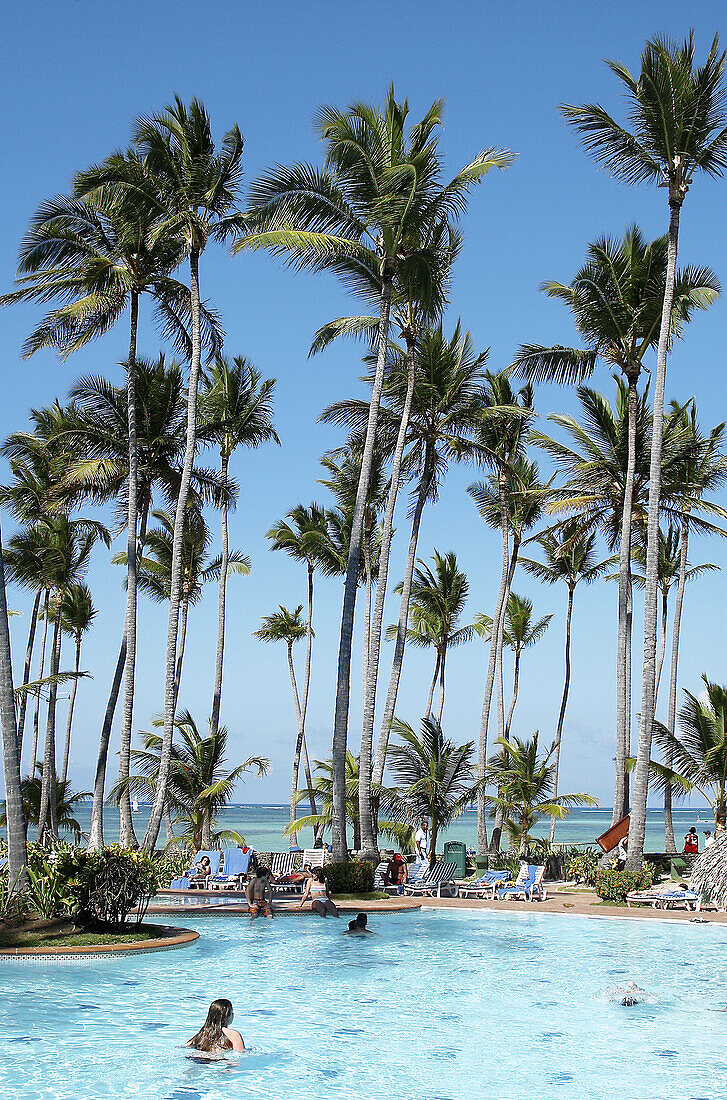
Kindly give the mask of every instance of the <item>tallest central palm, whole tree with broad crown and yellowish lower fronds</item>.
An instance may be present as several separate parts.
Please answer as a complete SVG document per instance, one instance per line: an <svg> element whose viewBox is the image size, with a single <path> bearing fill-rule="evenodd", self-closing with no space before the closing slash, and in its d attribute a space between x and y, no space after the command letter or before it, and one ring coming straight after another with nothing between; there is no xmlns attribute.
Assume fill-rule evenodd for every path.
<svg viewBox="0 0 727 1100"><path fill-rule="evenodd" d="M361 532L368 488L378 406L384 385L393 295L407 299L408 285L428 277L429 231L458 218L469 190L493 167L504 168L513 155L485 150L452 180L442 184L434 135L441 123L437 101L407 131L408 103L398 103L394 87L383 109L356 102L345 111L319 109L317 129L326 143L326 168L310 165L276 168L252 188L256 224L236 249L265 248L299 267L332 270L378 307L376 371L372 386L361 476L346 566L339 673L333 726L333 848L345 847L344 766L351 672L351 641L359 582ZM368 328L368 319L365 320Z"/></svg>

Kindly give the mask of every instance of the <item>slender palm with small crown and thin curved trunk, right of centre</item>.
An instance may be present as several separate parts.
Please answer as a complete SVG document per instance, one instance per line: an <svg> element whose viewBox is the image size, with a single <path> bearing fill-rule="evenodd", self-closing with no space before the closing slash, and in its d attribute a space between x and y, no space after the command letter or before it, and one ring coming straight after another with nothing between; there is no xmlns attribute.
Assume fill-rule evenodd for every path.
<svg viewBox="0 0 727 1100"><path fill-rule="evenodd" d="M536 542L541 547L546 561L536 561L532 558L521 558L520 562L526 572L537 576L543 584L555 584L562 581L568 586L568 610L565 612L565 673L563 679L563 694L561 696L560 711L558 712L558 725L555 727L555 750L553 752L553 793L558 794L558 774L560 766L561 740L563 736L563 723L565 722L565 707L571 686L571 619L573 617L573 597L576 586L583 581L584 584L592 584L596 578L603 576L607 562L596 560L596 535L583 530L577 520L566 520L554 531L546 531L540 535ZM550 818L549 843L555 839L555 822L553 815Z"/></svg>

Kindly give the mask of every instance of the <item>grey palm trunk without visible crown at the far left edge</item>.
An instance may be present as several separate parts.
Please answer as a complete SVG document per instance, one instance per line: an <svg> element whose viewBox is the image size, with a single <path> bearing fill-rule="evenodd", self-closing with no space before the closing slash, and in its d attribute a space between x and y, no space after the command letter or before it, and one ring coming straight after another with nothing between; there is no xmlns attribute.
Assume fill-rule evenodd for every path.
<svg viewBox="0 0 727 1100"><path fill-rule="evenodd" d="M37 606L37 605L36 605ZM8 890L25 886L27 847L25 815L20 781L20 747L15 726L15 693L12 682L10 625L5 596L5 569L0 536L0 733L2 735L2 773L5 784L5 821L8 833Z"/></svg>

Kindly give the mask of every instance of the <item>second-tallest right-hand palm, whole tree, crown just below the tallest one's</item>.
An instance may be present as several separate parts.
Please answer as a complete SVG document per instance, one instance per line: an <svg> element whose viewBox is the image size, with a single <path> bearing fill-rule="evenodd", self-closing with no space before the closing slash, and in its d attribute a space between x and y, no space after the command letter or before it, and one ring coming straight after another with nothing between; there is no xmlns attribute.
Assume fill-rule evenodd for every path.
<svg viewBox="0 0 727 1100"><path fill-rule="evenodd" d="M627 650L630 647L629 554L637 461L638 384L645 358L658 344L667 253L665 237L647 242L637 226L630 226L623 240L599 238L590 244L586 262L572 283L547 282L541 286L549 297L559 298L570 308L585 348L527 344L520 348L513 364L518 374L532 382L574 385L588 378L601 362L620 371L628 383L628 451L618 572L614 823L621 816L626 801L623 759L630 729ZM706 308L718 292L719 283L708 268L678 271L672 336L682 336L694 310Z"/></svg>

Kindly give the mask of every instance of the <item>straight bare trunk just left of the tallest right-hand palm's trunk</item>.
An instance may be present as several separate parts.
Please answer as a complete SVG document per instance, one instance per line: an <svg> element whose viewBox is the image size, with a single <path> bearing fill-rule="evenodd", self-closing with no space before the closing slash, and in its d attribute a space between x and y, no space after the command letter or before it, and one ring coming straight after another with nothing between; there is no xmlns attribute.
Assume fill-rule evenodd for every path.
<svg viewBox="0 0 727 1100"><path fill-rule="evenodd" d="M631 693L628 624L628 598L631 576L631 517L634 512L634 480L636 475L636 428L639 395L638 377L628 375L628 451L626 484L621 510L621 544L618 554L618 642L616 654L616 776L614 782L614 810L612 825L626 812L626 757L630 740Z"/></svg>

